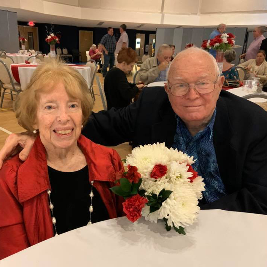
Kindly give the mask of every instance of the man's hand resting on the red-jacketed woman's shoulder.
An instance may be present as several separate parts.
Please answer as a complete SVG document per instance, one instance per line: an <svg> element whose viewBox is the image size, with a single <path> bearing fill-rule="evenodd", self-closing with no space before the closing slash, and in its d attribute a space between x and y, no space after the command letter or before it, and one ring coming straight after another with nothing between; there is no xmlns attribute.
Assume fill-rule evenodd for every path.
<svg viewBox="0 0 267 267"><path fill-rule="evenodd" d="M0 150L0 169L2 168L4 160L8 160L19 152L20 160L26 160L34 144L34 140L35 137L30 132L10 134ZM23 148L23 150L21 150L21 148Z"/></svg>

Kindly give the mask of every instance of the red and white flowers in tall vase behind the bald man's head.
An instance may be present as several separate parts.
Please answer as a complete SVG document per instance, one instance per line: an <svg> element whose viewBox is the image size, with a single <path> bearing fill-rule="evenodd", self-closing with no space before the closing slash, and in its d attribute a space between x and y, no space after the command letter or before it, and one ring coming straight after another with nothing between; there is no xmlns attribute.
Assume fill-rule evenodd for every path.
<svg viewBox="0 0 267 267"><path fill-rule="evenodd" d="M209 49L215 49L216 50L216 61L220 70L220 73L222 73L222 67L223 67L223 59L224 59L224 53L228 49L232 49L232 47L235 44L236 36L234 36L231 33L223 33L216 35L213 39L204 40L202 42L201 48L203 48L206 51L209 51Z"/></svg>

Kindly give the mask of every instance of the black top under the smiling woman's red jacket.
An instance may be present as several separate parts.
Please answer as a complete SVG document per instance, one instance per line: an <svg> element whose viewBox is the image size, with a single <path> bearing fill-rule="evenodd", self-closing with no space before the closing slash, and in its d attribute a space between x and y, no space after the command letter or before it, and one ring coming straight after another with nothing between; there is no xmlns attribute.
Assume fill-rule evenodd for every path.
<svg viewBox="0 0 267 267"><path fill-rule="evenodd" d="M58 234L87 225L90 218L89 206L91 184L89 182L88 166L79 171L62 172L48 166L51 184L51 203L56 218ZM93 187L93 212L91 222L109 219L107 208L98 191Z"/></svg>

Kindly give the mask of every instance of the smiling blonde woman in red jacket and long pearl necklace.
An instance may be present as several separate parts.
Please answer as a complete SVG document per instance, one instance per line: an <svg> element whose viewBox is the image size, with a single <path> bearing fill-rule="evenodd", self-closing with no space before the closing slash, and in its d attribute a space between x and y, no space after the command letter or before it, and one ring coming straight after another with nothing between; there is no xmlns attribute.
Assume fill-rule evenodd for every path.
<svg viewBox="0 0 267 267"><path fill-rule="evenodd" d="M109 190L123 172L119 155L81 135L91 110L85 80L56 61L37 67L18 96L18 123L36 139L25 162L17 155L0 170L0 259L122 215Z"/></svg>

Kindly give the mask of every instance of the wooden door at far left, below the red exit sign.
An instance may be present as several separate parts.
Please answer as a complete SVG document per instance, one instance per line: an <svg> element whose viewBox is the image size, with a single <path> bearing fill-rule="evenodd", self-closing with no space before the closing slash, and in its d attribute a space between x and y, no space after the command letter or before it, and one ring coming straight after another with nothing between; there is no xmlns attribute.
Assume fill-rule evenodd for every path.
<svg viewBox="0 0 267 267"><path fill-rule="evenodd" d="M38 27L18 25L18 32L20 37L27 39L27 42L25 43L26 49L34 49L35 51L39 51ZM19 45L21 48L20 42Z"/></svg>

